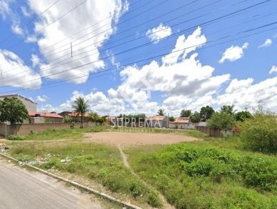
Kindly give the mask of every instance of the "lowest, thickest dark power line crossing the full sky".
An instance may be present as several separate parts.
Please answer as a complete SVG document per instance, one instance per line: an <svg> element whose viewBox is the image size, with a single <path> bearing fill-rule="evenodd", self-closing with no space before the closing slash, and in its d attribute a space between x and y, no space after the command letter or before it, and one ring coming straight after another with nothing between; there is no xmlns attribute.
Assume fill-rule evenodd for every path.
<svg viewBox="0 0 277 209"><path fill-rule="evenodd" d="M258 27L258 28L261 28L261 27ZM276 29L277 29L277 27L269 28L269 29L267 29L267 30L262 30L262 31L260 31L260 32L252 33L252 34L250 34L250 35L244 35L244 36L238 37L238 38L236 38L236 39L229 39L229 40L227 40L227 41L225 41L225 42L220 42L220 43L218 43L218 44L213 44L213 45L211 45L211 46L206 46L206 47L203 47L203 48L198 48L197 51L204 50L204 49L206 49L206 48L212 48L212 47L214 47L214 46L220 46L220 45L222 45L222 44L226 44L226 43L229 43L229 42L233 42L233 41L238 40L238 39L243 39L243 38L245 38L245 37L252 37L253 35L258 35L258 34L260 34L260 33L265 33L265 32L268 32L268 31L271 31L271 30L276 30ZM253 31L253 29L251 29L251 31ZM241 32L241 33L242 33L242 32ZM238 34L236 34L236 35L238 35ZM231 36L231 35L229 35L229 37L230 37L230 36ZM220 39L223 39L223 38L226 38L226 36L225 36L225 37L222 37L222 38L220 38ZM214 40L213 42L215 42L215 41L216 41L216 40ZM206 42L205 44L207 44L207 43L208 43L208 42ZM186 48L181 48L181 49L179 49L178 51L174 51L174 52L172 52L172 53L177 53L177 52L179 52L179 51L184 51L184 50L186 50L186 49L188 49L188 48L194 48L194 47L201 46L201 45L203 45L203 44L198 44L198 45L195 45L195 46L190 46L190 47L186 47ZM148 57L148 58L146 58L146 59L139 60L139 61L136 61L136 62L130 62L130 63L128 63L128 64L122 65L121 67L127 67L127 66L130 66L130 65L132 65L132 64L137 64L137 63L140 63L140 62L145 62L145 61L148 61L148 60L153 60L153 59L155 59L155 58L157 58L157 57L163 57L163 56L165 56L165 55L168 55L168 53L163 53L163 54L161 54L161 55L157 55L157 56L153 56L153 57ZM176 55L176 56L174 56L174 57L179 57L179 55ZM168 57L168 58L170 59L170 58L172 58L172 57ZM89 74L87 74L87 75L81 75L81 76L79 76L79 77L71 78L71 79L68 79L68 80L62 80L62 81L60 81L60 82L55 82L55 83L49 84L48 86L44 86L44 87L42 87L41 89L46 89L45 87L49 87L49 86L51 86L51 85L53 85L53 84L59 84L59 83L63 83L63 82L68 82L68 81L70 81L70 80L75 80L75 79L82 78L82 77L85 77L85 76L96 75L96 74L99 74L99 73L111 71L111 70L113 70L113 69L118 69L118 67L116 67L116 68L111 68L111 69L106 69L106 70L104 70L104 71L99 71L99 72L95 72L95 73L89 73ZM91 77L91 78L92 78L92 77ZM89 80L89 79L90 79L90 78L88 78L88 80ZM3 92L1 92L1 93L19 92L19 91L33 91L33 89L32 89L32 90L30 90L30 89L19 89L19 90L14 90L14 91L3 91Z"/></svg>

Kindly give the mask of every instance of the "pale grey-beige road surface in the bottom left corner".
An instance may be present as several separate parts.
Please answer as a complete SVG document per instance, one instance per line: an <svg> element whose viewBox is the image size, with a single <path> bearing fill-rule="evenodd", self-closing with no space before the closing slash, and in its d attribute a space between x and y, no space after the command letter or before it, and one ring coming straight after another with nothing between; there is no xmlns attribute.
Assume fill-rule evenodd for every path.
<svg viewBox="0 0 277 209"><path fill-rule="evenodd" d="M91 200L91 198L93 198ZM28 172L0 158L0 208L5 209L100 209L91 194L40 174Z"/></svg>

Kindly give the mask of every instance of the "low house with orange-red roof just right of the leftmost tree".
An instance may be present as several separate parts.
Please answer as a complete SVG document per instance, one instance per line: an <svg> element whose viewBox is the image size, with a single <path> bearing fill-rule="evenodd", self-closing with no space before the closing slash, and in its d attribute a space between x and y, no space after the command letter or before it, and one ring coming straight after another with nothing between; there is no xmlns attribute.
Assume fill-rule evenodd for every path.
<svg viewBox="0 0 277 209"><path fill-rule="evenodd" d="M62 123L64 118L58 115L57 113L45 113L45 112L36 112L36 111L28 111L30 119L30 124L37 123Z"/></svg>

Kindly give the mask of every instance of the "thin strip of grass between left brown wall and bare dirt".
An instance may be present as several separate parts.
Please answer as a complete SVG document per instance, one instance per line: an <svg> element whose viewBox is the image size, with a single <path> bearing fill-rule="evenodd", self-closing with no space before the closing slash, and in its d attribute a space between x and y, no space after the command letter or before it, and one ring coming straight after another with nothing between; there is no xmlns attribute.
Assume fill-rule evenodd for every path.
<svg viewBox="0 0 277 209"><path fill-rule="evenodd" d="M89 132L100 132L103 131L105 127L87 127L84 129L74 128L74 129L55 129L46 130L42 133L33 133L28 135L15 135L8 136L8 140L60 140L60 139L81 139L84 133Z"/></svg>

